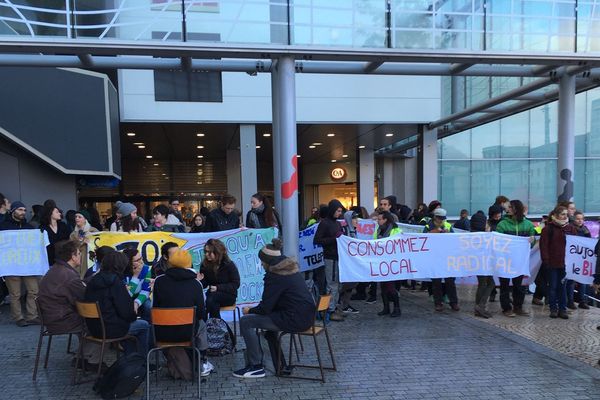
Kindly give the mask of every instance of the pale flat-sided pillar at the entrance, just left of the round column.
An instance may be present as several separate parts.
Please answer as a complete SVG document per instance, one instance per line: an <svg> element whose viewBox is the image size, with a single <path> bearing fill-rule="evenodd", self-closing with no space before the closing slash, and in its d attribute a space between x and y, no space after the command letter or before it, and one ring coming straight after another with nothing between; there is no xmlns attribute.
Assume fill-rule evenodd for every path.
<svg viewBox="0 0 600 400"><path fill-rule="evenodd" d="M256 127L240 125L241 193L238 207L245 217L250 210L250 197L257 192L256 182ZM246 223L246 221L244 221Z"/></svg>

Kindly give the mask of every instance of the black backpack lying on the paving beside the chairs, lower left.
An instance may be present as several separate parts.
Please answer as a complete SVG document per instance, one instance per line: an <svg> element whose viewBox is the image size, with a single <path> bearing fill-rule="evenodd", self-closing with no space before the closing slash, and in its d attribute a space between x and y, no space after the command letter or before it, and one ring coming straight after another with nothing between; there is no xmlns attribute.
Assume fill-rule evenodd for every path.
<svg viewBox="0 0 600 400"><path fill-rule="evenodd" d="M94 384L103 399L120 399L131 395L146 379L146 359L138 353L122 356Z"/></svg>

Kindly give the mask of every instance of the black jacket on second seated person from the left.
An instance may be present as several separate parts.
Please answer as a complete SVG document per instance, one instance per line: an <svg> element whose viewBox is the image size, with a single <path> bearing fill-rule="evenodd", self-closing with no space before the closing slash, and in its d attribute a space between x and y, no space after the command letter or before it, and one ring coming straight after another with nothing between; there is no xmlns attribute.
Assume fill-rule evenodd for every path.
<svg viewBox="0 0 600 400"><path fill-rule="evenodd" d="M100 304L107 338L126 335L129 325L137 319L133 299L116 274L99 271L94 275L85 289L85 301ZM87 319L86 324L92 335L102 337L99 320Z"/></svg>

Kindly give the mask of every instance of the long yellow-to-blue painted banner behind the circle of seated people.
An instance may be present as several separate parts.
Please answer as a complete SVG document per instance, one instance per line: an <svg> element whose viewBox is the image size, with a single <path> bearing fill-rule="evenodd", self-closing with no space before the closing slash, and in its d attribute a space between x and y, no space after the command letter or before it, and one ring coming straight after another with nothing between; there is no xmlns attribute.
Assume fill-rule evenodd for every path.
<svg viewBox="0 0 600 400"><path fill-rule="evenodd" d="M277 237L277 230L232 229L211 233L114 233L98 232L91 235L90 250L100 246L111 246L117 250L136 248L140 251L144 264L152 265L160 258L160 248L167 242L174 242L192 255L192 268L201 270L204 244L208 239L219 239L227 248L229 258L240 273L240 288L237 303L256 303L262 298L264 269L258 252ZM91 265L91 264L90 264Z"/></svg>

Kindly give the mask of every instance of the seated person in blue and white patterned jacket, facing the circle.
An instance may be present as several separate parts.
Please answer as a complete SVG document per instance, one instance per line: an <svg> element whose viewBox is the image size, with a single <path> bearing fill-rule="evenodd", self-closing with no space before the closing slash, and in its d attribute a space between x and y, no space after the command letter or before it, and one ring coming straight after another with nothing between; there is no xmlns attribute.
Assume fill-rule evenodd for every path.
<svg viewBox="0 0 600 400"><path fill-rule="evenodd" d="M127 291L133 299L135 312L142 319L151 322L150 309L152 308L152 301L150 300L150 292L152 291L152 279L150 277L150 267L144 265L142 253L138 249L125 249L123 254L129 260L125 270L125 283Z"/></svg>

